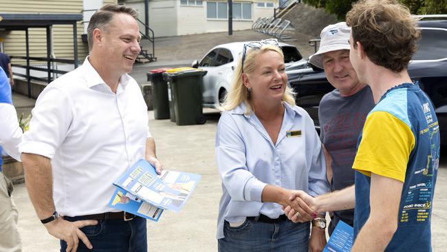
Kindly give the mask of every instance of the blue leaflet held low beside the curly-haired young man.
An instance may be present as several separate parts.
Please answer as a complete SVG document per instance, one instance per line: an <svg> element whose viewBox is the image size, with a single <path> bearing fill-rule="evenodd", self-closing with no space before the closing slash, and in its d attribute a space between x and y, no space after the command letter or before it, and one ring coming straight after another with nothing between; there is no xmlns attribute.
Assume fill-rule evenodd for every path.
<svg viewBox="0 0 447 252"><path fill-rule="evenodd" d="M352 249L353 238L353 228L339 220L323 252L349 252Z"/></svg>

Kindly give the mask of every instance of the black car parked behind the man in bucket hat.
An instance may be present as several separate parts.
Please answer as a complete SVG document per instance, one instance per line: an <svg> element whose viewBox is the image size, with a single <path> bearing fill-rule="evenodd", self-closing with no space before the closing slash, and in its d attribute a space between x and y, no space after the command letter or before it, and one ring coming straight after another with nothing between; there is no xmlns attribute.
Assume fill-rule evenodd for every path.
<svg viewBox="0 0 447 252"><path fill-rule="evenodd" d="M441 143L447 144L447 20L419 21L419 28L422 39L419 50L408 65L408 73L435 105ZM318 105L334 87L327 81L323 70L316 67L287 70L287 76L297 94L296 105L307 110L319 130Z"/></svg>

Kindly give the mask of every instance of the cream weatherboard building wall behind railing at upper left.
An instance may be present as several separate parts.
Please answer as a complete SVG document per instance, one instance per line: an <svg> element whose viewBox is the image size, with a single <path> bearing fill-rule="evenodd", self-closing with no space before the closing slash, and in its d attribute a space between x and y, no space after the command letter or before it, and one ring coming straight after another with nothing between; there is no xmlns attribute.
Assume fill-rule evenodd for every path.
<svg viewBox="0 0 447 252"><path fill-rule="evenodd" d="M88 1L88 0L85 0ZM103 0L104 4L117 3L117 0ZM82 13L83 0L14 0L0 1L1 13ZM78 59L82 63L88 54L88 45L81 40L84 33L83 22L77 23L78 32ZM47 41L45 28L30 28L30 56L46 57ZM3 49L7 54L25 56L25 31L0 32L3 39ZM73 26L53 26L53 52L59 59L74 59L73 50ZM25 61L13 60L12 63ZM39 62L38 64L42 64Z"/></svg>

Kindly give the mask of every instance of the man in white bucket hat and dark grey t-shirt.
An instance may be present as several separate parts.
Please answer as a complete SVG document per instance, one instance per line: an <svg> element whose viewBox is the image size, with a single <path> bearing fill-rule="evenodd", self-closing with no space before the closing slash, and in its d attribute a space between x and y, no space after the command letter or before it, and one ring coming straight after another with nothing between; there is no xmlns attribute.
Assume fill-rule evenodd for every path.
<svg viewBox="0 0 447 252"><path fill-rule="evenodd" d="M325 70L327 80L336 88L323 96L318 111L320 140L327 149L329 161L327 180L331 184L331 191L353 185L352 164L356 156L358 136L367 114L374 107L371 88L358 80L349 61L350 33L351 28L345 22L328 25L321 31L318 52L309 59L309 63ZM353 216L353 209L334 211L329 224L329 235L339 220L353 226Z"/></svg>

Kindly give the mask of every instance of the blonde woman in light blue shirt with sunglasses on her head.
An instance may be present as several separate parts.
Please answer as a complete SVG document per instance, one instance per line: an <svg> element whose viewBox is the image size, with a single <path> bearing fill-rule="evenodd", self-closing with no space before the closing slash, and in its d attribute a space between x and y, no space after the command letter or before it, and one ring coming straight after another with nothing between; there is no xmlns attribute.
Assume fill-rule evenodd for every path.
<svg viewBox="0 0 447 252"><path fill-rule="evenodd" d="M329 191L325 155L314 122L294 103L284 56L275 39L244 45L232 88L223 103L215 153L223 195L218 249L320 251L325 229L287 220L294 204L303 221L316 217L292 190L318 196ZM301 209L301 205L306 209ZM324 213L323 213L324 215Z"/></svg>

